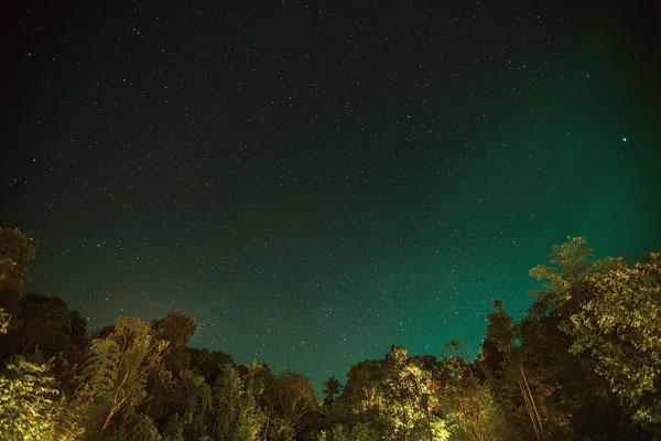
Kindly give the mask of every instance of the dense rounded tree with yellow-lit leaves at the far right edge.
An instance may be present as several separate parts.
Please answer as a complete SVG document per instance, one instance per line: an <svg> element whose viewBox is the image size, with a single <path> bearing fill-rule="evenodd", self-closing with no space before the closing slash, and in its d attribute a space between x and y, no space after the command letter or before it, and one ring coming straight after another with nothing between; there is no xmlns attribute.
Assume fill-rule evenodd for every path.
<svg viewBox="0 0 661 441"><path fill-rule="evenodd" d="M661 428L661 254L586 276L589 298L570 316L571 352L589 353L635 421Z"/></svg>

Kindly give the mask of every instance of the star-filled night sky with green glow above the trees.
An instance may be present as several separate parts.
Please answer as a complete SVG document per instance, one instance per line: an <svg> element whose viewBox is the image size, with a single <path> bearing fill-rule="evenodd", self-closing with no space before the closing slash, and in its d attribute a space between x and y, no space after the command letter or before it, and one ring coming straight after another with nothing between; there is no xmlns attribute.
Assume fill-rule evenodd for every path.
<svg viewBox="0 0 661 441"><path fill-rule="evenodd" d="M661 249L652 12L2 2L0 226L90 330L184 311L192 345L317 387L476 347L568 235Z"/></svg>

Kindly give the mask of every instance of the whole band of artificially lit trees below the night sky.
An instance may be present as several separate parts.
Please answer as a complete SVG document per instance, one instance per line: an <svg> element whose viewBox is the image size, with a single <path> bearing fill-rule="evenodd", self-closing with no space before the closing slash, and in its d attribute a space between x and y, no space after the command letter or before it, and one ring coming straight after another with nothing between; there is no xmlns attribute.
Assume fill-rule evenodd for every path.
<svg viewBox="0 0 661 441"><path fill-rule="evenodd" d="M22 294L34 249L0 229L2 440L660 440L661 254L590 261L583 238L531 270L548 281L514 321L497 301L472 357L351 366L312 380L193 348L181 312L86 334L58 298Z"/></svg>

